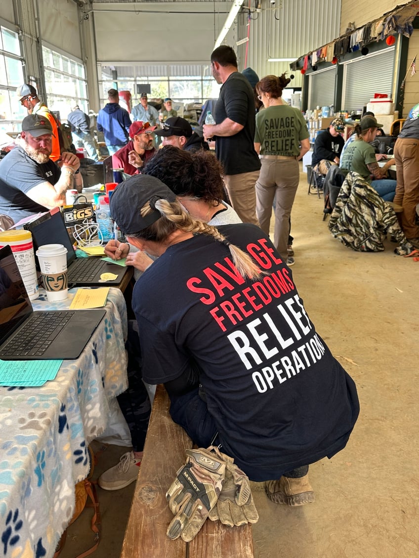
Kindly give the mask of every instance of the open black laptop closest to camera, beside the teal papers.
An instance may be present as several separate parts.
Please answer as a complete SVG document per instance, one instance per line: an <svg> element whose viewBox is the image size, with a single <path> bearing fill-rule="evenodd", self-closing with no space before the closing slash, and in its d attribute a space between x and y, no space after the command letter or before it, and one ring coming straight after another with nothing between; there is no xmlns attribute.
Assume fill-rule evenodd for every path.
<svg viewBox="0 0 419 558"><path fill-rule="evenodd" d="M0 359L78 358L106 310L34 311L10 246L0 248Z"/></svg>

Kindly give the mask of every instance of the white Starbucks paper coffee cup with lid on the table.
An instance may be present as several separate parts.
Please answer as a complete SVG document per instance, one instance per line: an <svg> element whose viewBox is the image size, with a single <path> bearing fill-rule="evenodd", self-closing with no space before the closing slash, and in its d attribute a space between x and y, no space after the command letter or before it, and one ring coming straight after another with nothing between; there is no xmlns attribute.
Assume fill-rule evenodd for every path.
<svg viewBox="0 0 419 558"><path fill-rule="evenodd" d="M63 244L44 244L36 251L49 302L65 300L68 296L66 254L67 249Z"/></svg>

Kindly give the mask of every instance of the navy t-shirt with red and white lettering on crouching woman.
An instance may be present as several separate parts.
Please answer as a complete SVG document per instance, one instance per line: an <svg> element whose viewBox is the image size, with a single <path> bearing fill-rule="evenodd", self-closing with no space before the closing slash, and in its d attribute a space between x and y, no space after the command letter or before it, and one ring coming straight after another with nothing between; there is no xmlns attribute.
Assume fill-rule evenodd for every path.
<svg viewBox="0 0 419 558"><path fill-rule="evenodd" d="M359 413L356 388L272 242L250 224L218 230L264 275L245 280L208 235L170 246L132 297L143 378L168 382L198 364L222 451L253 480L279 478L344 448Z"/></svg>

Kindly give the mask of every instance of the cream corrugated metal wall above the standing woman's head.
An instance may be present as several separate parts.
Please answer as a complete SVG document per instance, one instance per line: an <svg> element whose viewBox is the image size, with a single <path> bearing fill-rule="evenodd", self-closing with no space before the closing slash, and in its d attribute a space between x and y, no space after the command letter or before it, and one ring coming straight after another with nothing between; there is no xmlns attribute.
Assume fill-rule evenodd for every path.
<svg viewBox="0 0 419 558"><path fill-rule="evenodd" d="M264 75L289 73L289 62L268 58L292 58L318 49L339 36L341 0L261 0L259 13L251 13L247 66ZM246 5L246 2L245 4ZM253 4L252 4L253 5ZM247 13L238 16L237 40L247 36ZM235 45L232 45L235 46ZM235 47L240 69L245 68L246 44ZM290 86L300 87L302 75L294 73Z"/></svg>

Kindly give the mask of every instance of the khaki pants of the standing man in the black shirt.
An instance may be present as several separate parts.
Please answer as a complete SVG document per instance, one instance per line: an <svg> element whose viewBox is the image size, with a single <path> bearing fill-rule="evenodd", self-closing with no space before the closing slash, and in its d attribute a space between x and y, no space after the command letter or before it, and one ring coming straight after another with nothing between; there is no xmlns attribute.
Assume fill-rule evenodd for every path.
<svg viewBox="0 0 419 558"><path fill-rule="evenodd" d="M259 226L256 217L255 184L259 171L242 172L238 175L225 175L224 181L231 205L243 223Z"/></svg>

